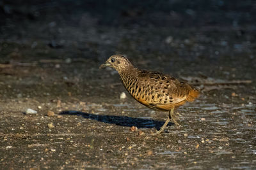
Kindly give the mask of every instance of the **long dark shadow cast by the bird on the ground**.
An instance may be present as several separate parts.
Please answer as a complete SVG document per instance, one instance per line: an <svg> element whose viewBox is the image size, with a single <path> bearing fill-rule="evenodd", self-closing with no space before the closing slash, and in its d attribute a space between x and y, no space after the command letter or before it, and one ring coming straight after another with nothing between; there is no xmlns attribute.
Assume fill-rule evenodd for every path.
<svg viewBox="0 0 256 170"><path fill-rule="evenodd" d="M133 117L123 117L115 115L94 115L92 113L84 113L81 111L61 111L60 115L77 115L83 118L90 118L91 120L97 120L99 122L104 122L106 124L116 124L120 126L132 127L136 126L138 128L156 128L157 130L162 127L164 122L152 120L149 118L133 118ZM173 125L169 122L168 125Z"/></svg>

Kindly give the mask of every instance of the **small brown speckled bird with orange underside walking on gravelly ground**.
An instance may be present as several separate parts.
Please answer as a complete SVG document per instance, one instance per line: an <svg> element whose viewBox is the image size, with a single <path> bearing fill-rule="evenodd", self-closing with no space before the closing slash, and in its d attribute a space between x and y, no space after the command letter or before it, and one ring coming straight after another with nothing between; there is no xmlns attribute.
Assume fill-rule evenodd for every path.
<svg viewBox="0 0 256 170"><path fill-rule="evenodd" d="M124 55L112 55L100 66L103 67L113 67L118 71L125 89L136 101L154 110L169 111L166 122L156 134L164 131L171 118L179 126L179 118L173 110L186 101L194 101L199 95L198 90L188 83L166 74L134 67Z"/></svg>

